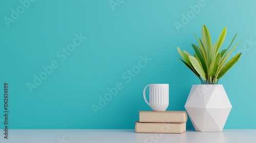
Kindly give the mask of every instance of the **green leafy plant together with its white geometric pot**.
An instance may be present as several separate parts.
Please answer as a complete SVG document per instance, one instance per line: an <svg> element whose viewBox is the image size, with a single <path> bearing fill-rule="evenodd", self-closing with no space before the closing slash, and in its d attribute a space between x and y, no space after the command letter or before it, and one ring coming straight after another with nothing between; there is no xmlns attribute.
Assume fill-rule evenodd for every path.
<svg viewBox="0 0 256 143"><path fill-rule="evenodd" d="M232 108L223 85L218 85L218 81L240 59L241 53L228 61L230 54L241 41L231 47L236 34L227 49L220 51L225 36L226 28L222 30L217 42L211 44L210 33L203 25L202 39L196 36L199 46L192 44L194 56L177 47L183 60L179 59L201 81L201 85L192 86L185 104L196 131L221 132Z"/></svg>

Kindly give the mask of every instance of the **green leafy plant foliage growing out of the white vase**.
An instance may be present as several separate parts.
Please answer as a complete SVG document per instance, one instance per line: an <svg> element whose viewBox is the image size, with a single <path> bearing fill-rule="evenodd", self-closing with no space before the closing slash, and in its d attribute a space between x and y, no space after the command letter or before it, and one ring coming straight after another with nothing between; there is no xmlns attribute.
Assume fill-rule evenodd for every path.
<svg viewBox="0 0 256 143"><path fill-rule="evenodd" d="M196 36L196 34L194 34ZM226 36L226 27L222 30L221 35L217 42L211 45L210 33L205 25L202 28L202 39L196 39L199 43L199 46L192 44L192 47L195 51L195 55L191 56L187 51L181 51L177 47L179 54L184 59L180 59L193 73L201 80L202 84L218 84L220 78L222 78L227 71L237 63L241 57L241 53L234 56L227 62L228 57L234 50L234 48L241 42L234 45L231 50L230 46L232 45L234 39L237 37L237 34L234 35L231 43L227 49L219 52L221 45ZM226 63L226 64L225 64Z"/></svg>

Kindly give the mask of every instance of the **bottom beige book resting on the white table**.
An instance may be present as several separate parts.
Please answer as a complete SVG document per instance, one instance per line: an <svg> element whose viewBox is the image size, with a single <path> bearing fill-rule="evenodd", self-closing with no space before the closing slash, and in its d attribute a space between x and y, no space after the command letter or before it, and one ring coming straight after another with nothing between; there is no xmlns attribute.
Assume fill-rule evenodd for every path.
<svg viewBox="0 0 256 143"><path fill-rule="evenodd" d="M183 133L186 123L140 123L135 124L136 133Z"/></svg>

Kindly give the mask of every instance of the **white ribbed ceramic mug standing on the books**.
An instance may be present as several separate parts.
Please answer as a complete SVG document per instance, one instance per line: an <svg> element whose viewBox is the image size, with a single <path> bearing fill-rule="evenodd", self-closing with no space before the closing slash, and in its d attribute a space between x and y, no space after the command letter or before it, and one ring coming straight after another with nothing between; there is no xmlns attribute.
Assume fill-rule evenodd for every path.
<svg viewBox="0 0 256 143"><path fill-rule="evenodd" d="M146 88L150 87L150 102L146 100ZM143 91L144 100L153 111L165 111L169 105L169 84L148 84Z"/></svg>

